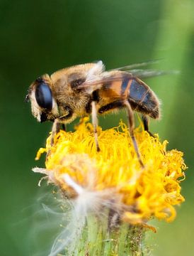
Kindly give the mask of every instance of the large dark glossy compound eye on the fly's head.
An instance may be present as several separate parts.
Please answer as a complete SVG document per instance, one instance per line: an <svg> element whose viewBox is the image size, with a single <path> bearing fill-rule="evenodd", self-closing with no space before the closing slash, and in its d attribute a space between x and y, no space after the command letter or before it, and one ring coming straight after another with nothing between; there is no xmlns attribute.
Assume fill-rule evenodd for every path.
<svg viewBox="0 0 194 256"><path fill-rule="evenodd" d="M49 111L52 110L52 92L45 82L37 85L35 99L40 107Z"/></svg>

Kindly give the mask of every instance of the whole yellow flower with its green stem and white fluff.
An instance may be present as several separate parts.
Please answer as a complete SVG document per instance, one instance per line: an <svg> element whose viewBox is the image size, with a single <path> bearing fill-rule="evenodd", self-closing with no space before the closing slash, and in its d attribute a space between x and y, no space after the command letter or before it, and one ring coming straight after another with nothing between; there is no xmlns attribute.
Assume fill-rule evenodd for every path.
<svg viewBox="0 0 194 256"><path fill-rule="evenodd" d="M183 153L166 151L167 142L159 142L157 135L151 137L142 127L135 129L135 137L144 169L123 122L105 131L98 127L99 152L87 118L75 132L59 131L52 146L48 137L36 157L47 153L45 169L33 171L45 174L64 200L72 202L72 221L56 238L50 255L65 247L67 255L81 255L81 250L85 255L141 255L144 230L155 232L148 221L170 222L176 217L175 206L184 201Z"/></svg>

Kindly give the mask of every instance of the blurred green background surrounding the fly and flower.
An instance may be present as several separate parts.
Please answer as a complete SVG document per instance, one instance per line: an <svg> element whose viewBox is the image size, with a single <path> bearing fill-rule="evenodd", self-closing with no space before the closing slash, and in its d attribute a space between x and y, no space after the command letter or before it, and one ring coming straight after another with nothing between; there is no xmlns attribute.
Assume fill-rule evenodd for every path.
<svg viewBox="0 0 194 256"><path fill-rule="evenodd" d="M30 171L43 166L34 157L51 129L24 102L30 82L93 60L111 69L157 58L152 68L181 73L146 80L162 102L163 117L151 130L185 153L189 169L176 220L154 222L158 232L147 240L152 255L194 255L193 13L193 0L0 1L1 256L47 255L55 237L38 217L50 188L39 188L40 175ZM110 115L101 125L112 127L121 117Z"/></svg>

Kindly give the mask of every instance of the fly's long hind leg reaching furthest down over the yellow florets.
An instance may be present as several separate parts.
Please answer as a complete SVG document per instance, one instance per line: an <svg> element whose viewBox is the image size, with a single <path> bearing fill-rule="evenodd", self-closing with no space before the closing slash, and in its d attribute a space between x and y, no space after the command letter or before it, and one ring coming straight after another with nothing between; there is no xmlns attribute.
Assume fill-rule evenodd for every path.
<svg viewBox="0 0 194 256"><path fill-rule="evenodd" d="M134 114L133 114L133 111L132 111L132 107L131 107L130 103L127 100L125 100L124 105L125 105L125 107L127 107L130 137L132 138L132 144L133 144L135 152L137 154L139 164L142 166L142 168L144 168L144 164L142 162L142 159L141 159L141 156L140 156L140 153L139 153L139 149L138 149L138 146L137 146L137 141L136 141L135 135L134 135L135 122L134 122Z"/></svg>

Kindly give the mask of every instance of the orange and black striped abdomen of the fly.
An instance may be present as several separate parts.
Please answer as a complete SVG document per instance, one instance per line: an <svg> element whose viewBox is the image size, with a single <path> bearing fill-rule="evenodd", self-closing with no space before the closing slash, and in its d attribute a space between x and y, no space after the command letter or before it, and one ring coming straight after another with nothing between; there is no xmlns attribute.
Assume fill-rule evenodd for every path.
<svg viewBox="0 0 194 256"><path fill-rule="evenodd" d="M105 105L105 102L101 102L99 113L121 107L122 101L127 99L132 110L147 114L154 119L159 118L159 100L142 80L132 78L129 73L122 73L120 78L113 75L108 80L109 82L103 83L103 87L99 92L100 98L107 99L105 102L108 102L108 105Z"/></svg>

